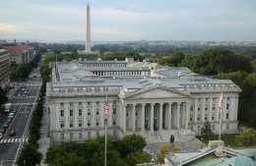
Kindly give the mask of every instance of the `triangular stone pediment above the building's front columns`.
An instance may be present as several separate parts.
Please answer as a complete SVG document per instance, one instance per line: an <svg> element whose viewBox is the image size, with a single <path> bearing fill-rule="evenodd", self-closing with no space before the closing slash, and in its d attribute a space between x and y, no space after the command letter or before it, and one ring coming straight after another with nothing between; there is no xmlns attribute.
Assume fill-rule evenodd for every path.
<svg viewBox="0 0 256 166"><path fill-rule="evenodd" d="M154 98L188 98L189 92L179 91L164 86L152 86L143 88L124 95L126 99L154 99Z"/></svg>

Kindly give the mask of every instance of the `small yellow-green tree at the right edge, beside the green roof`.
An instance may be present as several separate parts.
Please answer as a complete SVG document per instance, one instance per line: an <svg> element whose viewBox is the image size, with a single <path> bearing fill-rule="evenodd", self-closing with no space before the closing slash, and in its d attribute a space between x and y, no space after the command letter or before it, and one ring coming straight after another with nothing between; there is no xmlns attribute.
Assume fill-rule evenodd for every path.
<svg viewBox="0 0 256 166"><path fill-rule="evenodd" d="M252 128L244 130L238 137L238 143L243 146L255 146L256 145L256 130Z"/></svg>

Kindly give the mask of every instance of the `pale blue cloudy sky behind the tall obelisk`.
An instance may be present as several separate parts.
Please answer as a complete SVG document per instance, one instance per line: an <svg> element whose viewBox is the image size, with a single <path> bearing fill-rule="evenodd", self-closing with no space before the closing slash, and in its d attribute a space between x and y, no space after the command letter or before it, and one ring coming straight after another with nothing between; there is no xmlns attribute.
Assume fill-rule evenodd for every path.
<svg viewBox="0 0 256 166"><path fill-rule="evenodd" d="M256 0L1 0L0 39L256 41Z"/></svg>

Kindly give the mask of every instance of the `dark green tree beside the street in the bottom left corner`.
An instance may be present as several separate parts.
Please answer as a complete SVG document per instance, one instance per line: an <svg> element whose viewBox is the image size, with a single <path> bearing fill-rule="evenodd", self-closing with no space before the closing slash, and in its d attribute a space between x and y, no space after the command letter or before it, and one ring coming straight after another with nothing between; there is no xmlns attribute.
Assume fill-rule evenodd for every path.
<svg viewBox="0 0 256 166"><path fill-rule="evenodd" d="M27 166L35 166L40 164L41 158L42 155L38 152L37 148L31 143L27 143L22 149L16 164L18 166L24 166L26 162Z"/></svg>

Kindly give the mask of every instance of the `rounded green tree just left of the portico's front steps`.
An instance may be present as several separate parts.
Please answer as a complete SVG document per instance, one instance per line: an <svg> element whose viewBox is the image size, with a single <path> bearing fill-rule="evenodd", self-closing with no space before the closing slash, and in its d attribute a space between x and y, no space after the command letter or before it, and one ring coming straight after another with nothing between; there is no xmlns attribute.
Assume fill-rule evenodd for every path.
<svg viewBox="0 0 256 166"><path fill-rule="evenodd" d="M125 157L129 153L142 150L146 146L146 139L139 134L129 134L119 142L118 149L120 154Z"/></svg>

